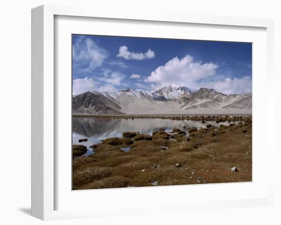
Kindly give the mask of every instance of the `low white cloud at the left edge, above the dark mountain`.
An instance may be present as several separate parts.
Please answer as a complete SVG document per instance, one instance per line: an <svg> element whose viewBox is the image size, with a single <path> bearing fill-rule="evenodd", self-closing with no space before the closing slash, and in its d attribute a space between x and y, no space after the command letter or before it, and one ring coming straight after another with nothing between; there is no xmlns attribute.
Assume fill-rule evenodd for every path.
<svg viewBox="0 0 281 225"><path fill-rule="evenodd" d="M92 78L85 77L83 79L74 79L73 81L73 95L78 95L87 91L93 91L97 88L99 82Z"/></svg>

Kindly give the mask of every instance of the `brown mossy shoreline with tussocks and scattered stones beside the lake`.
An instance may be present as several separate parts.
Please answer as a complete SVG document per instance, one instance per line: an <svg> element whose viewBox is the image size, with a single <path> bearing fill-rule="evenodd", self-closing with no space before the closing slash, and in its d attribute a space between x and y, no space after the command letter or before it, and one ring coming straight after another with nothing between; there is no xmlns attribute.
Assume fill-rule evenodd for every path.
<svg viewBox="0 0 281 225"><path fill-rule="evenodd" d="M127 118L126 118L127 117ZM132 118L133 117L133 118ZM139 118L138 118L139 117ZM142 116L112 119L142 119ZM147 118L147 117L145 117ZM251 116L154 116L206 123L152 135L124 132L90 146L73 146L73 189L246 182L252 180ZM220 123L229 122L229 125ZM236 123L232 123L236 122ZM81 142L86 142L82 140ZM124 151L129 149L129 151Z"/></svg>

